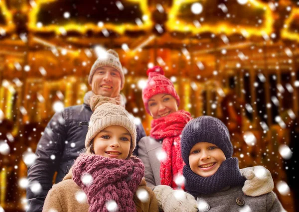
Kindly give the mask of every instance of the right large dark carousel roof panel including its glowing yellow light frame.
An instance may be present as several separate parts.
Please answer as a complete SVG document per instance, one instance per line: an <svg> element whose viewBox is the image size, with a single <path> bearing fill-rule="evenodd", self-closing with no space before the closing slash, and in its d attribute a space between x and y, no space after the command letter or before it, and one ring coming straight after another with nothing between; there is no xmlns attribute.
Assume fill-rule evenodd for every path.
<svg viewBox="0 0 299 212"><path fill-rule="evenodd" d="M244 37L270 34L274 22L270 6L258 0L248 0L245 4L237 0L225 3L219 0L174 0L168 17L166 26L169 31L239 33Z"/></svg>

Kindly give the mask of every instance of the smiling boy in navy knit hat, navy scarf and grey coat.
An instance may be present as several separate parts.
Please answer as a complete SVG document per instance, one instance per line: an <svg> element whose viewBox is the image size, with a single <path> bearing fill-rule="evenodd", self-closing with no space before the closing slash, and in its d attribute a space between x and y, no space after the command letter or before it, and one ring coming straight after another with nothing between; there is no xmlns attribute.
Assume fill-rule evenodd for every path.
<svg viewBox="0 0 299 212"><path fill-rule="evenodd" d="M258 197L244 195L245 178L238 159L232 158L229 131L219 119L201 116L191 120L182 132L181 152L186 163L185 189L197 198L200 212L285 211L274 192ZM258 170L261 182L265 170Z"/></svg>

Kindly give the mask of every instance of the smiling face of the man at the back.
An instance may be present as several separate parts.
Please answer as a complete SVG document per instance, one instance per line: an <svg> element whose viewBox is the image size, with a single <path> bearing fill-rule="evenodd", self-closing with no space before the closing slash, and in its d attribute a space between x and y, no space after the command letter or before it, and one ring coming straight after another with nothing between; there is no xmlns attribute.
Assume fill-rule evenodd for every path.
<svg viewBox="0 0 299 212"><path fill-rule="evenodd" d="M120 73L110 66L98 68L92 77L91 90L96 95L117 97L121 91Z"/></svg>

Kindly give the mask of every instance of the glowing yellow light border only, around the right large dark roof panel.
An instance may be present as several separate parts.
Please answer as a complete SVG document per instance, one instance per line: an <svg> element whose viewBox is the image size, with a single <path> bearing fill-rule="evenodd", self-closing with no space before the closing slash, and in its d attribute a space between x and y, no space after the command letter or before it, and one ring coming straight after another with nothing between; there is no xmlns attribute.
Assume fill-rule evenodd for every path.
<svg viewBox="0 0 299 212"><path fill-rule="evenodd" d="M227 35L236 32L243 34L246 31L246 33L243 34L246 37L250 37L251 35L262 35L262 31L268 34L270 34L273 31L274 17L271 8L269 7L268 4L259 2L257 0L248 0L248 3L250 3L254 8L263 9L265 11L264 13L265 21L261 27L248 27L248 26L236 27L236 25L230 24L228 21L218 21L213 25L205 24L203 22L201 27L196 27L193 23L186 23L184 21L178 22L177 21L178 13L181 6L183 4L193 3L193 2L194 3L198 2L198 0L174 0L173 6L169 10L168 20L166 22L166 28L169 31L182 31L182 32L191 31L193 34L202 33L202 32L211 32L215 34L225 33Z"/></svg>

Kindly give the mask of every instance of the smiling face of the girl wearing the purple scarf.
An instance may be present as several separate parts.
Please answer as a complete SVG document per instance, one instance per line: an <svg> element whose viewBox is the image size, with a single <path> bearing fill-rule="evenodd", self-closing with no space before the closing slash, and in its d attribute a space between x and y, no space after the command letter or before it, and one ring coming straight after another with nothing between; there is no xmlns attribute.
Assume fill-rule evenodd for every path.
<svg viewBox="0 0 299 212"><path fill-rule="evenodd" d="M131 147L131 134L122 126L109 126L93 140L94 152L108 158L127 159Z"/></svg>

